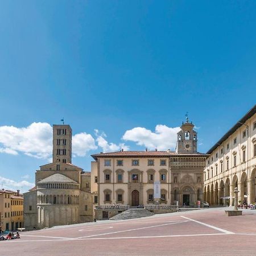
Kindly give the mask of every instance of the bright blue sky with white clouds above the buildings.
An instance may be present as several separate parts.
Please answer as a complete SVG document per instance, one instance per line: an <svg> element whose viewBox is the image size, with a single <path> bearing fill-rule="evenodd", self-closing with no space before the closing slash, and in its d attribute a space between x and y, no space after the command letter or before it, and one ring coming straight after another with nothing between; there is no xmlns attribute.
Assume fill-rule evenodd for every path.
<svg viewBox="0 0 256 256"><path fill-rule="evenodd" d="M173 149L186 112L206 152L255 104L255 31L255 1L2 1L0 187L34 183L63 117L85 170Z"/></svg>

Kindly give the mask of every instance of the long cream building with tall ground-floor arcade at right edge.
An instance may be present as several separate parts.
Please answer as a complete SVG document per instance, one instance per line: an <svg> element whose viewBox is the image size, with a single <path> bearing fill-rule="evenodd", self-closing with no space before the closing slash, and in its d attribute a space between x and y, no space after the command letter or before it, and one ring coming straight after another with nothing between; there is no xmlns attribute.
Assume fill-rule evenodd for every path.
<svg viewBox="0 0 256 256"><path fill-rule="evenodd" d="M256 201L256 105L207 152L204 198L210 205Z"/></svg>

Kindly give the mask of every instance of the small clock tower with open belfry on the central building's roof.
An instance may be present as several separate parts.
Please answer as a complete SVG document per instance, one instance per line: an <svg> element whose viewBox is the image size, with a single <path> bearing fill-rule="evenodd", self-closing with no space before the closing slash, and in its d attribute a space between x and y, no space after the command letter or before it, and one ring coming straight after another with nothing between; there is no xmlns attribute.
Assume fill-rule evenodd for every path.
<svg viewBox="0 0 256 256"><path fill-rule="evenodd" d="M176 152L179 154L197 153L197 132L193 130L194 125L189 123L188 117L182 123L181 130L177 133Z"/></svg>

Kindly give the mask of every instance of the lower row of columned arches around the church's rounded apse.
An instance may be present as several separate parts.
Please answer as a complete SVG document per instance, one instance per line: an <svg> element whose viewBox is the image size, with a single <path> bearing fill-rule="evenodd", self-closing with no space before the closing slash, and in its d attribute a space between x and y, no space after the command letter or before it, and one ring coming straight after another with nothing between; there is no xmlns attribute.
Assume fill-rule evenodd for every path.
<svg viewBox="0 0 256 256"><path fill-rule="evenodd" d="M79 196L39 195L38 204L79 204Z"/></svg>

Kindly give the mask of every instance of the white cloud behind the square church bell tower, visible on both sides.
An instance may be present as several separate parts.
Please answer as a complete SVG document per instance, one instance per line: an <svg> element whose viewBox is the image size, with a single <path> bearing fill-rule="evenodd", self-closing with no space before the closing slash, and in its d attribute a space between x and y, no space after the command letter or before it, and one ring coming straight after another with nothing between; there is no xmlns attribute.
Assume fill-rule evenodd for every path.
<svg viewBox="0 0 256 256"><path fill-rule="evenodd" d="M74 156L85 156L86 152L95 149L97 146L92 135L80 133L72 137ZM49 161L52 156L52 126L42 122L34 122L22 128L0 126L0 153L12 155L23 153Z"/></svg>

